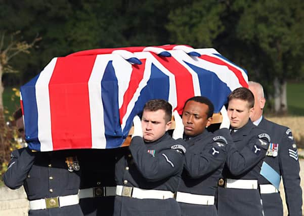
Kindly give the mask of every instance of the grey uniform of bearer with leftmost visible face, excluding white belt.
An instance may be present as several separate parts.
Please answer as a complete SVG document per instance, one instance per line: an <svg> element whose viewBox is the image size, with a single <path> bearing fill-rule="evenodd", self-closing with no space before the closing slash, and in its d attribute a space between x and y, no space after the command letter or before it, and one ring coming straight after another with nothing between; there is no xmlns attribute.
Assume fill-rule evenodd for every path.
<svg viewBox="0 0 304 216"><path fill-rule="evenodd" d="M183 144L182 139L174 140L167 133L151 143L134 137L130 153L116 163L117 185L177 192L184 164ZM180 215L180 208L173 197L161 200L116 195L114 215Z"/></svg>

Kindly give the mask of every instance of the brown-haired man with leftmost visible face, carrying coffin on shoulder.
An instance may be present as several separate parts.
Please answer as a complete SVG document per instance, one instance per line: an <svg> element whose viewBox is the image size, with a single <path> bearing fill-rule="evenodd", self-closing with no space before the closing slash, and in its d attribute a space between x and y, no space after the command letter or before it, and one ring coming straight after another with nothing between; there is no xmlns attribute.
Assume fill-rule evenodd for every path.
<svg viewBox="0 0 304 216"><path fill-rule="evenodd" d="M161 99L144 106L142 120L134 118L129 153L118 158L114 215L181 215L174 199L186 152L183 139L171 138L172 106ZM182 137L181 137L182 138Z"/></svg>

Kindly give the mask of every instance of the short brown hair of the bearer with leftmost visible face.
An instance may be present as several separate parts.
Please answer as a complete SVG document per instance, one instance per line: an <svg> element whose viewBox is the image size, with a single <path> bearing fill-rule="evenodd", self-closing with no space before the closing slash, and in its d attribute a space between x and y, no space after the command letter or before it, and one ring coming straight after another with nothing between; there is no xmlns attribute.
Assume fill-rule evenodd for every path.
<svg viewBox="0 0 304 216"><path fill-rule="evenodd" d="M172 117L172 106L169 102L163 100L163 99L153 99L148 101L145 106L144 110L147 111L157 111L157 110L163 110L165 111L165 122L169 122Z"/></svg>

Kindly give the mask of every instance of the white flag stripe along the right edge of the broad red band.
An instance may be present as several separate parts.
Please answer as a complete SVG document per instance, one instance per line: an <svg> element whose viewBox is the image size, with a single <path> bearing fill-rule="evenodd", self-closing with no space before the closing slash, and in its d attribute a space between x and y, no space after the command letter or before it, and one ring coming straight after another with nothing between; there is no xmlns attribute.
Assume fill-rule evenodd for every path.
<svg viewBox="0 0 304 216"><path fill-rule="evenodd" d="M91 118L91 136L92 148L105 149L105 125L104 112L101 97L101 80L104 75L107 64L112 60L111 54L98 55L88 81L89 100L90 100L90 118Z"/></svg>

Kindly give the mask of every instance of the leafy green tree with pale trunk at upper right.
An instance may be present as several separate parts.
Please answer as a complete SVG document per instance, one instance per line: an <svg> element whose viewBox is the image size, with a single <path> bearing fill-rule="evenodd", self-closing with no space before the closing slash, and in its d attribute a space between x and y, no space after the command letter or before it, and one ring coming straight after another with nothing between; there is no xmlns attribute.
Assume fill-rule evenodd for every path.
<svg viewBox="0 0 304 216"><path fill-rule="evenodd" d="M260 54L270 61L269 64L264 63L268 67L259 70L268 74L268 81L273 82L275 111L287 112L287 79L303 73L303 63L298 60L304 56L304 2L270 0L255 1L243 6L236 28L237 37L247 44L257 46ZM254 62L257 67L259 63Z"/></svg>

